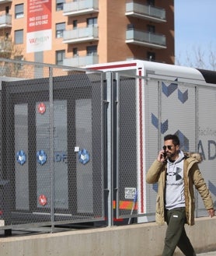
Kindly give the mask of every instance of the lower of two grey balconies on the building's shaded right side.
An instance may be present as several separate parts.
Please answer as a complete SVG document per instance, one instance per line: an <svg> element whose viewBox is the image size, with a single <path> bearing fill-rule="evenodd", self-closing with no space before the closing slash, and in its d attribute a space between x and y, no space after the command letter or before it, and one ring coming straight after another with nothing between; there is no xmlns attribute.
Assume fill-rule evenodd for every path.
<svg viewBox="0 0 216 256"><path fill-rule="evenodd" d="M129 29L126 30L127 44L137 44L145 47L152 47L156 49L165 49L165 36L156 33L145 32L142 30Z"/></svg>

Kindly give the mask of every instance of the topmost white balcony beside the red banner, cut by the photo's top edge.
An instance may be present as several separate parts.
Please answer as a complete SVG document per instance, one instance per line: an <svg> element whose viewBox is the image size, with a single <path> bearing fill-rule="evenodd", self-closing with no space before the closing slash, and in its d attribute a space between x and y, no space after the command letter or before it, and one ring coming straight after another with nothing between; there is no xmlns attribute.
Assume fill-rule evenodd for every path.
<svg viewBox="0 0 216 256"><path fill-rule="evenodd" d="M78 16L89 13L99 12L99 0L78 0L64 3L64 16Z"/></svg>

